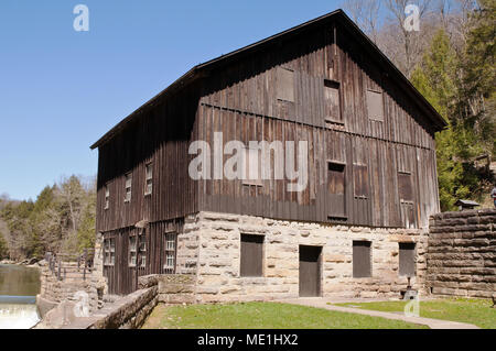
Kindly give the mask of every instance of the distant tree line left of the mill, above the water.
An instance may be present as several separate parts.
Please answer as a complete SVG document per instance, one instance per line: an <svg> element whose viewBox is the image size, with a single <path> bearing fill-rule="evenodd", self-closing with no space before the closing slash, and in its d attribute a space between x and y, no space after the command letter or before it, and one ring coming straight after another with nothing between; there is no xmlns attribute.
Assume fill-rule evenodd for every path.
<svg viewBox="0 0 496 351"><path fill-rule="evenodd" d="M0 259L79 253L95 244L96 182L71 176L46 186L35 201L0 197Z"/></svg>

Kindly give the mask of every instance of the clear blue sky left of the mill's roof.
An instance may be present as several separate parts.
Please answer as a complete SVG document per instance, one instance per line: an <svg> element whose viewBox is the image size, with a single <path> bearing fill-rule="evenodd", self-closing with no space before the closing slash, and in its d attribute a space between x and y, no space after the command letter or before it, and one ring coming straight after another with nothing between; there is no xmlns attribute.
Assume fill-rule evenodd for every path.
<svg viewBox="0 0 496 351"><path fill-rule="evenodd" d="M89 32L73 8L89 9ZM331 12L339 0L1 0L0 194L97 173L89 145L192 66Z"/></svg>

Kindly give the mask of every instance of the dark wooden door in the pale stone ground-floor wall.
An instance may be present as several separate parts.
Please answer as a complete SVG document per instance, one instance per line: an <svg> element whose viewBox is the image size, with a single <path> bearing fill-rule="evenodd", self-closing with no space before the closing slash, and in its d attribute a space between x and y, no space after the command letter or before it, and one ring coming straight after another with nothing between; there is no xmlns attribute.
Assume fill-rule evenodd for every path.
<svg viewBox="0 0 496 351"><path fill-rule="evenodd" d="M321 296L321 246L300 245L300 296Z"/></svg>

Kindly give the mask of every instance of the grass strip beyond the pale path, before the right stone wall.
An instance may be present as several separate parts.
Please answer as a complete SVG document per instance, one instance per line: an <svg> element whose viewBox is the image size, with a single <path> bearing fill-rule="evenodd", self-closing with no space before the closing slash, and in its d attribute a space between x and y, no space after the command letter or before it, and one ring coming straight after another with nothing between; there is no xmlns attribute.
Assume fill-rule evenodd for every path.
<svg viewBox="0 0 496 351"><path fill-rule="evenodd" d="M406 301L351 303L337 306L380 311L402 311ZM420 317L466 322L479 328L496 329L496 308L487 299L445 298L420 301Z"/></svg>

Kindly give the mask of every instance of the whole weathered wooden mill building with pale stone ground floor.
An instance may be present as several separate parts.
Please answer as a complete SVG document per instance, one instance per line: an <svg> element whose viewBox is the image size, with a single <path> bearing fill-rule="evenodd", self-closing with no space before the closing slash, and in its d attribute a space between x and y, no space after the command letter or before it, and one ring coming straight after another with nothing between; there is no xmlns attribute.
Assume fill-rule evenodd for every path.
<svg viewBox="0 0 496 351"><path fill-rule="evenodd" d="M197 301L422 289L444 127L341 10L197 65L91 145L109 292L154 273L194 275ZM219 132L304 141L304 189L192 177L190 146Z"/></svg>

